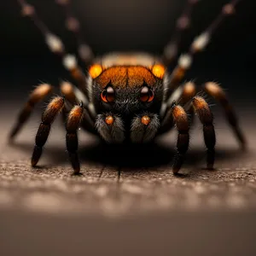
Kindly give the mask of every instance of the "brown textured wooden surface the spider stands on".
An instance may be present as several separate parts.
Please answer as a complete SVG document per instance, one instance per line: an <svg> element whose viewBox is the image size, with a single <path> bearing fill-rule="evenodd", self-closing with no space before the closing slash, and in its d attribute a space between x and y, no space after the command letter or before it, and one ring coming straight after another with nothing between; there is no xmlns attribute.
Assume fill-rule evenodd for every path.
<svg viewBox="0 0 256 256"><path fill-rule="evenodd" d="M255 255L256 134L248 114L253 111L241 113L247 152L237 147L224 119L215 119L212 172L203 169L205 148L195 125L180 177L169 164L175 131L153 146L136 148L102 145L80 131L84 175L72 177L59 120L40 167L32 169L40 118L34 113L9 145L6 136L17 111L1 113L1 255Z"/></svg>

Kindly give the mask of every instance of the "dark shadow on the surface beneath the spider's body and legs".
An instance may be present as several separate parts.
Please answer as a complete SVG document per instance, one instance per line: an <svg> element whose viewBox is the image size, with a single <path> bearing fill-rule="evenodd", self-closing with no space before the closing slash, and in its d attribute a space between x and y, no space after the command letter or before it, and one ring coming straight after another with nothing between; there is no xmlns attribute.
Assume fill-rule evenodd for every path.
<svg viewBox="0 0 256 256"><path fill-rule="evenodd" d="M33 145L31 143L14 143L11 147L26 150L28 154L32 154ZM79 157L82 168L84 162L86 162L90 165L97 164L128 169L140 168L143 171L150 167L171 167L173 157L176 154L175 148L175 143L171 146L164 143L111 145L97 141L83 146L81 142ZM241 157L241 155L239 148L217 148L215 162L218 165L218 160L232 160ZM61 143L58 145L49 143L44 148L42 159L44 156L47 157L50 166L68 162L67 152L61 147ZM202 170L207 165L206 156L206 150L203 147L189 148L183 166L189 169L194 169L196 166Z"/></svg>

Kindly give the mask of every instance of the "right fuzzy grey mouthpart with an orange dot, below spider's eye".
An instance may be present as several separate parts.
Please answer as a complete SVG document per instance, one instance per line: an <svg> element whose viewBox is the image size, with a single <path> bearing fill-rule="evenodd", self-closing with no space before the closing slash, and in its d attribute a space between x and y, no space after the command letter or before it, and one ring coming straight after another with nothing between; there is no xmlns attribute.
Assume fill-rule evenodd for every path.
<svg viewBox="0 0 256 256"><path fill-rule="evenodd" d="M148 143L160 127L160 119L156 113L141 113L131 121L131 142Z"/></svg>

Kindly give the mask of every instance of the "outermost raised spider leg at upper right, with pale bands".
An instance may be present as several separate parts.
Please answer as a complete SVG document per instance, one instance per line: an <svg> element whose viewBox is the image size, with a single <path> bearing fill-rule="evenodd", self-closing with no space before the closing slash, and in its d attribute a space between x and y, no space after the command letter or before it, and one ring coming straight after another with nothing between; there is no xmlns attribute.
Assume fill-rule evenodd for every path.
<svg viewBox="0 0 256 256"><path fill-rule="evenodd" d="M230 3L225 4L220 14L212 21L210 26L194 39L190 45L189 52L179 56L177 66L173 69L169 79L166 99L172 95L173 91L177 89L177 86L183 80L185 73L189 70L189 67L191 67L194 55L207 47L213 32L216 32L225 17L235 14L236 4L240 1L241 0L231 0Z"/></svg>

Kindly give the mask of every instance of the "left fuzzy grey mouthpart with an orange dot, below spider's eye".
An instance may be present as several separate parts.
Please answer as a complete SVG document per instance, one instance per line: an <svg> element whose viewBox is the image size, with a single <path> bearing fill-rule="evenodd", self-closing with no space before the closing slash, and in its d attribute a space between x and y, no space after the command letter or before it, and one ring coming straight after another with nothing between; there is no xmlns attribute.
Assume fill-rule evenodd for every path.
<svg viewBox="0 0 256 256"><path fill-rule="evenodd" d="M117 114L102 113L96 117L96 131L107 143L122 143L125 140L124 122Z"/></svg>

